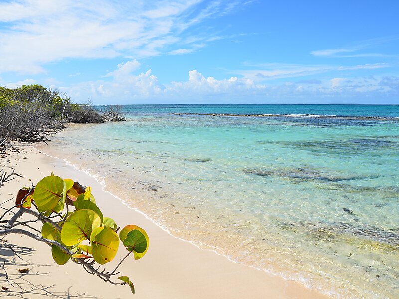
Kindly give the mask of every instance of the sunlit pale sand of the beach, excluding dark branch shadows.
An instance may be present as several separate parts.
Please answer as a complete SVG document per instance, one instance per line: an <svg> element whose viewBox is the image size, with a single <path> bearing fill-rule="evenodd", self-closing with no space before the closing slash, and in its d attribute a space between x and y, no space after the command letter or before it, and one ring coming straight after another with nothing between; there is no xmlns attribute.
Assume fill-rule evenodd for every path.
<svg viewBox="0 0 399 299"><path fill-rule="evenodd" d="M10 167L15 168L15 171L24 175L25 178L18 178L4 185L1 190L3 194L7 194L7 192L13 194L12 190L16 192L16 188L19 189L22 185L28 185L28 178L31 178L34 183L41 176L45 176L47 172L53 171L56 175L72 177L84 185L92 186L93 193L96 195L96 199L98 198L98 205L119 226L124 225L124 222L129 219L129 223L137 224L146 229L151 239L149 253L142 260L128 261L122 267L123 272L128 271L124 274L130 274L135 283L136 298L203 298L204 296L208 298L327 298L317 291L307 289L299 282L288 281L282 277L233 262L214 251L200 249L193 242L173 236L141 211L132 207L126 209L124 201L111 192L102 190L103 186L101 182L96 181L96 178L73 169L72 165L66 165L66 161L63 159L49 157L45 153L37 151L34 147L26 145L21 147L19 155L11 154L8 157L9 165L12 165ZM23 157L27 157L27 159L23 159ZM43 173L40 174L40 177L37 177L38 171L32 169L32 162ZM131 218L137 219L137 221L130 220ZM20 238L19 236L17 238L10 236L8 239L13 241ZM45 249L47 247L44 244L36 244L38 242L28 238L24 239L26 239L23 243L24 246L34 249ZM57 283L56 287L52 287L54 292L62 293L63 288L65 290L71 288L72 286L68 287L69 283L63 281L62 278L68 274L74 275L77 272L83 285L81 283L75 285L75 281L73 281L73 287L76 286L77 288L75 292L92 293L95 298L101 298L101 296L103 298L116 298L116 294L118 294L118 298L131 298L128 290L124 287L101 284L102 282L98 278L90 276L82 269L78 270L78 265L73 263L64 266L56 265L52 261L48 247L47 250L36 251L29 261L38 261L38 264L45 264L45 266L38 267L39 269L42 267L51 268L45 271L49 271L50 275L48 276L53 280L53 283ZM118 257L115 261L117 259ZM128 266L130 265L135 270L133 273L129 273ZM23 277L29 278L33 283L29 273L23 275ZM46 278L47 282L49 277ZM37 284L43 283L39 275L35 281ZM99 288L100 286L101 288ZM11 288L14 289L10 286L10 291ZM1 294L5 294L5 292ZM36 297L36 295L32 292L32 297L27 298L42 296Z"/></svg>

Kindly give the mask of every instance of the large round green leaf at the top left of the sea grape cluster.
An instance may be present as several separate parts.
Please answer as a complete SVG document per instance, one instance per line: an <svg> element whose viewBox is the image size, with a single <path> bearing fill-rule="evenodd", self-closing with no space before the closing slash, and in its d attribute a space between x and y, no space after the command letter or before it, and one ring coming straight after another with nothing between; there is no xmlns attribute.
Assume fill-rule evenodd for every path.
<svg viewBox="0 0 399 299"><path fill-rule="evenodd" d="M35 203L41 210L52 210L60 200L63 191L64 181L62 178L55 175L46 176L35 187Z"/></svg>

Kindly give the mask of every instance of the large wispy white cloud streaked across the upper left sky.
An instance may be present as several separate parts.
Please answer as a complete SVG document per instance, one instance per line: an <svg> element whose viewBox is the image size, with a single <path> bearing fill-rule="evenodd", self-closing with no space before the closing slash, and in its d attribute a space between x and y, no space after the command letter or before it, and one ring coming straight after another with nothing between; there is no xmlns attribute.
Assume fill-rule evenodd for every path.
<svg viewBox="0 0 399 299"><path fill-rule="evenodd" d="M141 59L189 53L221 38L185 31L238 9L239 1L20 0L0 3L0 72L45 72L65 58ZM155 8L154 8L155 7ZM193 36L194 34L191 34ZM196 36L193 36L196 37ZM194 40L194 39L193 39Z"/></svg>

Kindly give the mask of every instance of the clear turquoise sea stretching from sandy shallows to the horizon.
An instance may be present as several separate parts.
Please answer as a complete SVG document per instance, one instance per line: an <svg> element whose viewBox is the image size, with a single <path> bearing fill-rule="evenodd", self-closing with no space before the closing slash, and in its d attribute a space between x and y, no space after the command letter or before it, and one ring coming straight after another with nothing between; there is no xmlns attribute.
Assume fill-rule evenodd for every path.
<svg viewBox="0 0 399 299"><path fill-rule="evenodd" d="M126 122L71 126L43 150L201 247L333 296L399 297L399 106L124 110Z"/></svg>

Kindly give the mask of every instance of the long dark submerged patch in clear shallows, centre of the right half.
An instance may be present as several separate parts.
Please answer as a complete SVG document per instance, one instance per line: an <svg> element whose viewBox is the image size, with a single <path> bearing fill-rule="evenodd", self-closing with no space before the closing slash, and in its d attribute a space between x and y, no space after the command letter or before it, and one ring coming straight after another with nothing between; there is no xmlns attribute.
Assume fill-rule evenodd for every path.
<svg viewBox="0 0 399 299"><path fill-rule="evenodd" d="M370 178L368 176L347 176L347 177L339 177L339 176L331 176L326 175L317 170L306 169L306 168L293 168L293 169L244 169L245 174L248 175L257 175L262 177L267 176L277 176L288 178L291 180L301 181L301 182L309 182L309 181L326 181L326 182L341 182L341 181L353 181L353 180L362 180L365 178Z"/></svg>

